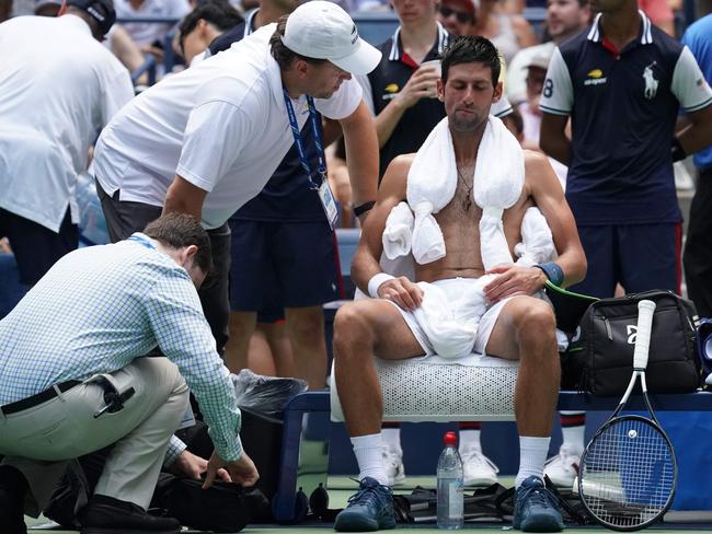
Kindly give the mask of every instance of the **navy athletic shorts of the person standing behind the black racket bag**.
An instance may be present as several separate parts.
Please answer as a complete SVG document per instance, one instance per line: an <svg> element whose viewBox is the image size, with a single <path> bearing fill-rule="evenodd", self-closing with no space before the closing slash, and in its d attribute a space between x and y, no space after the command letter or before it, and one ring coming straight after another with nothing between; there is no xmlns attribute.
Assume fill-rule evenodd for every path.
<svg viewBox="0 0 712 534"><path fill-rule="evenodd" d="M627 293L667 289L680 292L681 224L581 225L588 271L569 288L605 299L620 283Z"/></svg>

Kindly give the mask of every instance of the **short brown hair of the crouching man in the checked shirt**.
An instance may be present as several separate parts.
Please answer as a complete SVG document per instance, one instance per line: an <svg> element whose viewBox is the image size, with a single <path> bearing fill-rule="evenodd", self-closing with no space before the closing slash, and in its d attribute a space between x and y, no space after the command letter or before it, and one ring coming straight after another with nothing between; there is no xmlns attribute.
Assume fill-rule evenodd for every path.
<svg viewBox="0 0 712 534"><path fill-rule="evenodd" d="M143 233L171 248L197 246L195 265L205 274L213 268L210 237L195 217L185 213L168 213L149 222Z"/></svg>

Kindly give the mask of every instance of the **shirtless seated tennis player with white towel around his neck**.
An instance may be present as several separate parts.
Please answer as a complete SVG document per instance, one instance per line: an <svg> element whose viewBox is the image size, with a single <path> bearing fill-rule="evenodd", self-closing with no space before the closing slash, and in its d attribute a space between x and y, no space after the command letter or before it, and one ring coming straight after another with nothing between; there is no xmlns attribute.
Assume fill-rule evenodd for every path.
<svg viewBox="0 0 712 534"><path fill-rule="evenodd" d="M561 514L542 480L560 380L555 321L551 306L535 294L548 278L558 285L583 279L586 259L572 213L547 158L521 151L514 137L507 140L502 135L498 119L490 116L492 103L502 94L498 76L497 50L487 39L460 37L450 45L443 57L443 78L438 81L438 97L447 112L447 119L436 126L436 130L441 130L443 142L438 146L432 135L417 154L399 156L389 165L376 207L364 227L352 276L363 291L375 298L342 306L334 323L336 385L361 479L359 492L336 518L337 531L395 525L380 449L381 388L371 356L403 360L433 355L436 341L444 340L436 339L444 336L438 336L433 324L426 324L430 306L428 295L437 297L438 291L445 293L446 305L451 302L460 306L449 311L457 318L455 329L459 322L474 320L478 323L471 329L469 345L466 343L453 349L448 357L457 357L464 348L468 352L474 350L520 360L515 392L515 416L520 436L515 527L527 532L563 529ZM505 144L509 147L509 154L487 153L496 146L491 142L493 131L514 143ZM423 228L418 233L418 219L424 219L422 207L428 204L422 202L415 210L412 234L413 256L418 262L415 280L393 278L381 272L379 265L387 220L403 199L409 200L411 208L414 206L415 189L424 185L422 181L415 182L422 174L415 172L416 164L420 166L420 162L427 159L422 153L434 146L440 149L436 151L440 158L427 162L430 170L436 171L425 173L425 182L432 186L437 176L444 185L448 179L450 184L450 198L440 199L440 208L432 206L435 225L441 230L444 251L439 258L436 254L435 260L429 263L428 258L418 259L416 241L418 235L426 233ZM516 189L512 204L505 206L503 216L501 210L494 210L502 220L483 225L487 222L483 213L491 218L493 210L491 207L482 210L479 206L481 190L487 187L486 182L494 182L495 174L503 175L501 167L509 169L509 161L517 158L521 178L513 186ZM483 162L482 167L475 165L478 160ZM491 164L484 164L485 160ZM440 171L438 176L437 169L449 173ZM508 179L506 174L504 179ZM533 205L547 219L559 257L555 264L514 266L512 252L521 241L525 211ZM432 230L430 235L438 233ZM497 242L501 247L493 252ZM418 248L423 247L418 245ZM435 247L428 248L428 253L433 249ZM502 262L507 256L508 265ZM472 302L481 300L484 305L473 305L461 298L463 294L472 295ZM472 307L483 313L469 317ZM443 356L441 349L437 352Z"/></svg>

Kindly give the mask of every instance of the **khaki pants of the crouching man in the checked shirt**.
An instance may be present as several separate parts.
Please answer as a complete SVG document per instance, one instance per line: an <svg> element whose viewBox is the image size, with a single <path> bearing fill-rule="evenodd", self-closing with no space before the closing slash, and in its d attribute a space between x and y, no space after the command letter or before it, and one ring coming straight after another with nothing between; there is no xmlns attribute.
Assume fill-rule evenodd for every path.
<svg viewBox="0 0 712 534"><path fill-rule="evenodd" d="M27 478L35 501L27 513L47 506L68 461L112 443L95 492L148 508L169 440L187 409L188 388L166 358L138 358L110 376L119 391L136 390L114 414L94 418L104 390L88 381L38 406L0 415L2 463Z"/></svg>

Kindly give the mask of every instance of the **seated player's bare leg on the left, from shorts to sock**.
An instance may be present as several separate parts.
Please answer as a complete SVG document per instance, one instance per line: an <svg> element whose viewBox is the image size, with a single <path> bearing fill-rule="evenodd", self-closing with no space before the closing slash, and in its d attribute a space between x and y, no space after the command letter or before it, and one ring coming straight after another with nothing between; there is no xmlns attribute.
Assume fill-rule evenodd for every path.
<svg viewBox="0 0 712 534"><path fill-rule="evenodd" d="M389 302L361 300L338 310L334 320L334 372L352 437L380 432L383 398L372 356L401 360L424 353Z"/></svg>

